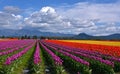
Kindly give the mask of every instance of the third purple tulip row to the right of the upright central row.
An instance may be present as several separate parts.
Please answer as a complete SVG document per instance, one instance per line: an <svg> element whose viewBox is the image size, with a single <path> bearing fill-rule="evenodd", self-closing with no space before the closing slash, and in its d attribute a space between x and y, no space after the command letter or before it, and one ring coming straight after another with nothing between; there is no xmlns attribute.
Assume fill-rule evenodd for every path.
<svg viewBox="0 0 120 74"><path fill-rule="evenodd" d="M93 55L90 55L90 54L86 54L85 51L76 51L75 49L71 49L71 48L68 48L68 47L63 47L63 46L60 46L60 45L55 45L55 44L51 44L51 43L46 43L44 42L46 45L49 45L49 47L53 48L56 50L56 48L59 48L61 50L64 50L66 52L69 52L69 53L72 53L72 54L77 54L77 55L80 55L80 56L83 56L83 57L87 57L87 58L90 58L90 59L94 59L94 60L97 60L97 61L100 61L101 63L105 63L109 66L112 66L114 67L114 62L111 62L109 60L104 60L102 59L100 56L99 57L96 57L96 56L93 56ZM56 48L55 48L56 47ZM85 53L84 53L85 52ZM89 52L89 51L88 51ZM93 52L94 53L94 52Z"/></svg>

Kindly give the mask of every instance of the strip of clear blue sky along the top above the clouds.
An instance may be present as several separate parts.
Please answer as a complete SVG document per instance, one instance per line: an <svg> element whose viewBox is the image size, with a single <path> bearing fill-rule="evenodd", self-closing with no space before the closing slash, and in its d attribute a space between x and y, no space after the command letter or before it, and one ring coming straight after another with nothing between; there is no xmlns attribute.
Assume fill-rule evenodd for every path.
<svg viewBox="0 0 120 74"><path fill-rule="evenodd" d="M0 0L0 8L4 6L17 6L19 8L41 8L43 6L59 6L62 4L75 4L78 2L115 3L118 0Z"/></svg>

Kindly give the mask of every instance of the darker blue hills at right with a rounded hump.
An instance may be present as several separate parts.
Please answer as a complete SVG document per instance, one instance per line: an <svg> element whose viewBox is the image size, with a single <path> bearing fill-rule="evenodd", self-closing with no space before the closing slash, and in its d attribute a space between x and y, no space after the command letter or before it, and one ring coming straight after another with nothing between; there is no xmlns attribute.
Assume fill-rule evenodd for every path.
<svg viewBox="0 0 120 74"><path fill-rule="evenodd" d="M120 34L111 34L107 36L92 36L80 33L72 37L73 39L99 39L99 40L120 40Z"/></svg>

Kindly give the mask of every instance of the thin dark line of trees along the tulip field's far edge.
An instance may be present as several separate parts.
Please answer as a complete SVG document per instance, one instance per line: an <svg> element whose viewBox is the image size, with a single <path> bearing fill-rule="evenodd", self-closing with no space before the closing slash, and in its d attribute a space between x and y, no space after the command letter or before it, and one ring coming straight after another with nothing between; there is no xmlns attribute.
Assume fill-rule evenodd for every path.
<svg viewBox="0 0 120 74"><path fill-rule="evenodd" d="M99 40L99 41L120 41L120 39L104 39L104 38L75 38L75 37L56 37L56 36L0 36L1 39L10 38L10 39L59 39L59 40Z"/></svg>

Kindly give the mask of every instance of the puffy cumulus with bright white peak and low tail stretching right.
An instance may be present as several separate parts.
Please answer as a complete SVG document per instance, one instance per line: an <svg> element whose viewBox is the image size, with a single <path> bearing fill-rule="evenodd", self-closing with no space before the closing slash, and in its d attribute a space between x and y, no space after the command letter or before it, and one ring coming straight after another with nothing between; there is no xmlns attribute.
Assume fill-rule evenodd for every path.
<svg viewBox="0 0 120 74"><path fill-rule="evenodd" d="M52 7L43 7L24 19L25 24L40 31L60 33L80 33L82 28L92 27L95 23L81 18L68 18L61 15Z"/></svg>

